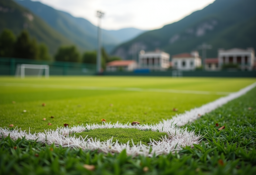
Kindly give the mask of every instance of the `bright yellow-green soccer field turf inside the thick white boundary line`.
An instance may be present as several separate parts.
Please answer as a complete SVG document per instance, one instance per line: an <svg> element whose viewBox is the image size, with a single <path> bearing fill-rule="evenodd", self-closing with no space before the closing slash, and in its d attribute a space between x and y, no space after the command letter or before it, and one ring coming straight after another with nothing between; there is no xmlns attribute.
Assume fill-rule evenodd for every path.
<svg viewBox="0 0 256 175"><path fill-rule="evenodd" d="M22 130L42 132L64 123L101 124L101 119L111 123L158 123L255 81L255 78L1 77L0 127L13 124Z"/></svg>

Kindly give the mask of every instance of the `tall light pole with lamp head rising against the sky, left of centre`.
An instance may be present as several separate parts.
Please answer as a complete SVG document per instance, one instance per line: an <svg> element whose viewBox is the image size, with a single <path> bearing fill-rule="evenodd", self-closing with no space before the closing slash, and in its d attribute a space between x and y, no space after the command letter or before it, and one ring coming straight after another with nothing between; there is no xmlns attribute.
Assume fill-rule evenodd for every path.
<svg viewBox="0 0 256 175"><path fill-rule="evenodd" d="M101 11L97 11L97 17L99 18L99 24L98 24L98 54L97 54L97 73L101 73L101 18L103 18L104 13Z"/></svg>

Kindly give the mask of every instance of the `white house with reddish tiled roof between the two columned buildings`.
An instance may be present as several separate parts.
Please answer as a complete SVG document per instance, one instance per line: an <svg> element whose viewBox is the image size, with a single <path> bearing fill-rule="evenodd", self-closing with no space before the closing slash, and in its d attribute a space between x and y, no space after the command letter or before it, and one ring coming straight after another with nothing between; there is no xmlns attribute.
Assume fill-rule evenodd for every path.
<svg viewBox="0 0 256 175"><path fill-rule="evenodd" d="M178 70L195 70L202 65L197 51L172 56L172 67Z"/></svg>

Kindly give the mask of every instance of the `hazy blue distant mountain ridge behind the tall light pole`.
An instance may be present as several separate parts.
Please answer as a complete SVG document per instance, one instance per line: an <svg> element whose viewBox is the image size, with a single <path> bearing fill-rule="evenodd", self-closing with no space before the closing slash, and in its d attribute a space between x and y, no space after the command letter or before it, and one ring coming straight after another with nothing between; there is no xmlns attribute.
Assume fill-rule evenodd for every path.
<svg viewBox="0 0 256 175"><path fill-rule="evenodd" d="M16 2L41 17L52 28L81 49L92 50L97 48L97 27L88 20L73 17L67 12L55 10L41 2L31 0L16 0ZM130 40L142 32L144 31L135 28L102 30L103 46L107 51L111 51L118 44Z"/></svg>

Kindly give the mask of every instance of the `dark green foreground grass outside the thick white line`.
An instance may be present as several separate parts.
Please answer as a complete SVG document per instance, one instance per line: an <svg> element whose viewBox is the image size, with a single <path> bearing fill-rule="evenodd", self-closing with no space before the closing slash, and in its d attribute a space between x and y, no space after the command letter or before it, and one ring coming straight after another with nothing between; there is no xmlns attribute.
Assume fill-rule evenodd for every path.
<svg viewBox="0 0 256 175"><path fill-rule="evenodd" d="M179 153L131 157L125 151L111 155L7 137L0 141L0 171L1 174L254 175L255 97L256 88L187 125L188 130L200 131L203 140L195 148L186 147ZM216 123L226 129L217 130ZM94 165L95 170L86 170L84 164ZM148 172L143 171L144 167L148 167Z"/></svg>

